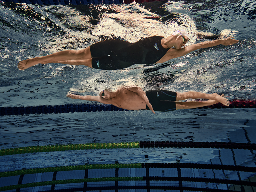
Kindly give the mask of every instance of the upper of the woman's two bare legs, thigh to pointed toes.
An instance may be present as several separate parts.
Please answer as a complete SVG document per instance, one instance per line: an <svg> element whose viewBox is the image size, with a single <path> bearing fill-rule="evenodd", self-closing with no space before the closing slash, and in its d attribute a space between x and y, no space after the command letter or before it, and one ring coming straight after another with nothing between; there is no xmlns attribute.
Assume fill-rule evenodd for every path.
<svg viewBox="0 0 256 192"><path fill-rule="evenodd" d="M91 51L90 47L86 47L85 49L82 50L66 50L66 51L60 51L56 52L50 55L46 55L43 57L35 57L32 59L27 59L20 61L18 64L19 70L24 70L29 67L32 67L38 63L49 63L50 62L56 62L56 61L63 61L63 60L86 60L86 59L91 59Z"/></svg>

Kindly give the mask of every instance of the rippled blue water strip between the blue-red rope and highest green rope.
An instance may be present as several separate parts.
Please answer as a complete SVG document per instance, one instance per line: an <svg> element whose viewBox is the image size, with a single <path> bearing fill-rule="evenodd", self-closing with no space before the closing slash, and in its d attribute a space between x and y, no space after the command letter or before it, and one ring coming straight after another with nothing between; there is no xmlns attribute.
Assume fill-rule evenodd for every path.
<svg viewBox="0 0 256 192"><path fill-rule="evenodd" d="M247 119L234 116L237 111ZM1 147L23 147L25 143L33 146L140 140L221 141L228 138L226 132L252 128L255 122L252 109L191 109L168 115L113 111L13 116L12 119L2 116Z"/></svg>

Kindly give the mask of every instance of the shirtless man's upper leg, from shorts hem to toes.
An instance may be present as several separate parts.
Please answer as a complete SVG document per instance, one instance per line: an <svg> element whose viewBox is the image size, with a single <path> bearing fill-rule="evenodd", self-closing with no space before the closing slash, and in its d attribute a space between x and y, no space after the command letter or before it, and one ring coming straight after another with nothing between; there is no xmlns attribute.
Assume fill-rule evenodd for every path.
<svg viewBox="0 0 256 192"><path fill-rule="evenodd" d="M218 95L217 93L207 94L207 93L200 93L200 92L184 92L184 93L177 93L176 101L185 100L185 99L210 99L215 100L222 103L225 106L229 106L229 101L224 95Z"/></svg>

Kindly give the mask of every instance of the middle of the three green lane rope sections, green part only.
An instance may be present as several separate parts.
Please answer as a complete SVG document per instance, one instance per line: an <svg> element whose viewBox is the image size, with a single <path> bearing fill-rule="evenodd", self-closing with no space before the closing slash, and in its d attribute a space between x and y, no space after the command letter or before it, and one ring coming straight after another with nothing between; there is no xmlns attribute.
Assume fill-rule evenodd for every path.
<svg viewBox="0 0 256 192"><path fill-rule="evenodd" d="M1 177L10 177L16 175L27 175L34 173L45 173L55 171L74 171L74 170L85 170L85 169L116 169L116 168L141 168L141 163L131 164L86 164L86 165L68 165L60 167L45 167L45 168L34 168L34 169L22 169L17 171L0 172Z"/></svg>

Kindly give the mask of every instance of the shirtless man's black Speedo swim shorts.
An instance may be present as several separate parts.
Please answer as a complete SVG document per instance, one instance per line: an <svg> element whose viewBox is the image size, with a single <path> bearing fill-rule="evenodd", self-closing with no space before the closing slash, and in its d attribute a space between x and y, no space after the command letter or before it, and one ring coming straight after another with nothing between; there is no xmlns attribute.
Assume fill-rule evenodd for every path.
<svg viewBox="0 0 256 192"><path fill-rule="evenodd" d="M166 90L152 90L147 91L146 95L154 111L176 110L176 92ZM150 110L148 106L146 106L146 109Z"/></svg>

